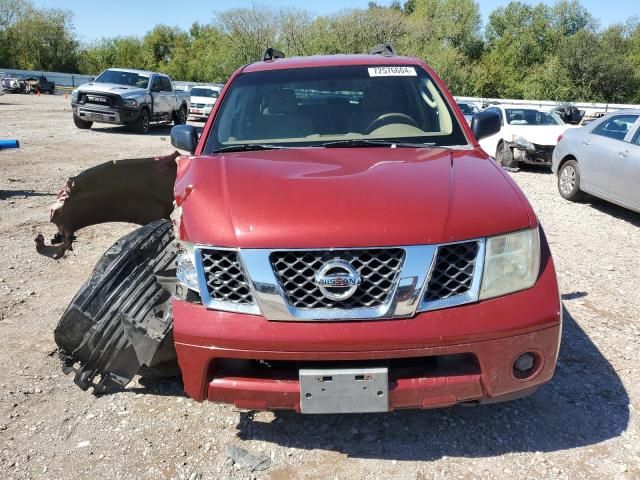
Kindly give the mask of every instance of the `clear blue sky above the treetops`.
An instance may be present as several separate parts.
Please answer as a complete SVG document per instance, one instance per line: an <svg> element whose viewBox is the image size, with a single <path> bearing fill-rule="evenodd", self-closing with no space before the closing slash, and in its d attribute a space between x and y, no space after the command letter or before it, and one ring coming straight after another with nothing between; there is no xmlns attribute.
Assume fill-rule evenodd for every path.
<svg viewBox="0 0 640 480"><path fill-rule="evenodd" d="M483 19L498 7L506 5L508 0L478 0ZM525 3L539 3L537 0L524 0ZM34 0L40 8L63 8L74 13L73 23L80 40L90 42L102 37L120 35L144 35L155 25L162 23L188 29L193 22L209 23L216 11L234 7L268 5L268 9L278 7L304 8L314 14L327 14L345 8L364 8L368 0L321 0L295 2L292 0ZM378 0L380 5L388 5L390 0ZM553 4L553 0L544 0ZM640 17L640 0L581 0L591 14L607 26L624 22L631 16Z"/></svg>

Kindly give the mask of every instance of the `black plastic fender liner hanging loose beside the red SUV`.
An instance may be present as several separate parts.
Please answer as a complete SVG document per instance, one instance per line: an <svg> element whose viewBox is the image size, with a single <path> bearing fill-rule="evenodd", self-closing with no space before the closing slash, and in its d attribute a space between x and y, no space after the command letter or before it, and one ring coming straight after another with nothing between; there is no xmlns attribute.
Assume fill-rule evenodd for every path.
<svg viewBox="0 0 640 480"><path fill-rule="evenodd" d="M94 393L124 388L137 373L179 374L171 293L156 275L175 268L172 224L157 220L114 243L54 332L65 373Z"/></svg>

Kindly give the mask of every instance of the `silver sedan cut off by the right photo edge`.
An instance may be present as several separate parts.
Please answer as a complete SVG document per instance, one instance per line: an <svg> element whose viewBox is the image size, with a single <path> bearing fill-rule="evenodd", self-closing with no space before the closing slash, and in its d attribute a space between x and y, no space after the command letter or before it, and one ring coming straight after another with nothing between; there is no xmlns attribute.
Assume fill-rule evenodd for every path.
<svg viewBox="0 0 640 480"><path fill-rule="evenodd" d="M640 110L614 112L566 131L552 170L567 200L586 192L640 212Z"/></svg>

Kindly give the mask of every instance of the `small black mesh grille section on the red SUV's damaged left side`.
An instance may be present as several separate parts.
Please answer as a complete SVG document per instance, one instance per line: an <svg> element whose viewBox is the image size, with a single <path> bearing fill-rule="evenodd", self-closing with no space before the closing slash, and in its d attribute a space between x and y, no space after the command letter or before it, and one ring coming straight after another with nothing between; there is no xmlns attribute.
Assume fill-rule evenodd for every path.
<svg viewBox="0 0 640 480"><path fill-rule="evenodd" d="M235 250L200 250L204 280L212 300L251 305L253 295Z"/></svg>

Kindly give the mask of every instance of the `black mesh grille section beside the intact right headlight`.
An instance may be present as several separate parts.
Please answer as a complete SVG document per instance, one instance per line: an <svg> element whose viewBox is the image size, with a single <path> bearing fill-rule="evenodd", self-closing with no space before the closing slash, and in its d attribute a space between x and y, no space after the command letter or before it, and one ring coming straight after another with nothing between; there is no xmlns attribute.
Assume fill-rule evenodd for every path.
<svg viewBox="0 0 640 480"><path fill-rule="evenodd" d="M480 244L477 241L438 247L425 302L445 300L471 290Z"/></svg>

